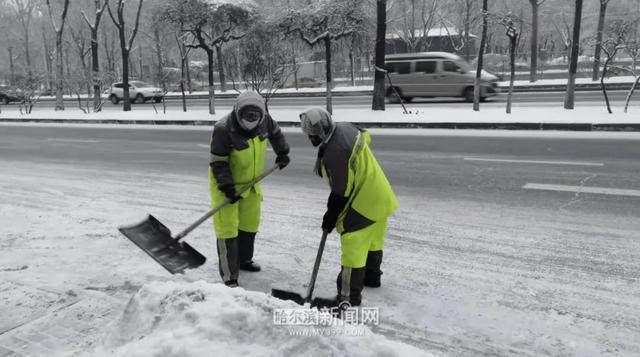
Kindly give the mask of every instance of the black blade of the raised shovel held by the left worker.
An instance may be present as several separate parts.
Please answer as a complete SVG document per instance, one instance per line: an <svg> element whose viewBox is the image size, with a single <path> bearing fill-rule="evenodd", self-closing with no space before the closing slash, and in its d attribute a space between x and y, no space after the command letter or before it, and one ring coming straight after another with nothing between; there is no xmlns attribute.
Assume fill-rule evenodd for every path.
<svg viewBox="0 0 640 357"><path fill-rule="evenodd" d="M171 231L152 215L118 230L171 274L201 266L207 260L189 244L171 237Z"/></svg>

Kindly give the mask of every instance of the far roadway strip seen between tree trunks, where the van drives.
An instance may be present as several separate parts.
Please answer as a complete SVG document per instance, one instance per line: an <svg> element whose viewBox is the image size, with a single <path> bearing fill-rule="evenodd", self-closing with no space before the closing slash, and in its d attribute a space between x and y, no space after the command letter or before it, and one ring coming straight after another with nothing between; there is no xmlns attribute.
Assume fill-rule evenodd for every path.
<svg viewBox="0 0 640 357"><path fill-rule="evenodd" d="M609 91L609 98L611 102L615 103L617 106L622 105L627 96L626 91ZM269 105L272 107L306 107L310 105L323 105L325 103L325 98L322 96L314 96L314 97L275 97L271 98ZM557 106L562 105L564 101L564 93L563 92L521 92L521 93L513 93L513 105L514 106ZM637 102L637 101L636 101ZM216 105L219 107L231 107L234 103L232 98L216 98ZM506 94L501 93L497 97L490 98L486 103L483 103L483 106L489 107L502 107L506 103ZM604 97L602 92L599 91L578 91L576 92L576 103L578 105L605 105ZM15 104L11 104L15 105ZM68 100L65 102L65 106L72 108L77 107L78 103L76 100ZM181 107L182 101L178 97L168 98L166 101L166 105L168 107ZM187 105L192 109L205 109L208 106L207 99L188 99ZM358 107L358 106L370 106L371 105L371 97L368 95L357 95L357 96L334 96L333 97L333 105L339 107ZM388 104L392 106L399 106L399 104ZM416 98L414 99L410 105L412 107L431 107L431 106L447 106L447 107L465 107L469 106L469 103L466 103L462 98ZM631 101L632 106L637 106L638 104L634 104L634 100L632 98ZM36 105L36 110L39 109L48 109L53 108L55 103L53 101L42 101ZM162 106L162 104L156 104L158 108ZM104 105L104 110L121 110L122 104L113 105L111 103L106 103ZM152 104L150 102L144 104L133 104L133 109L136 110L138 108L144 108L148 110L153 110ZM160 110L160 109L158 109Z"/></svg>

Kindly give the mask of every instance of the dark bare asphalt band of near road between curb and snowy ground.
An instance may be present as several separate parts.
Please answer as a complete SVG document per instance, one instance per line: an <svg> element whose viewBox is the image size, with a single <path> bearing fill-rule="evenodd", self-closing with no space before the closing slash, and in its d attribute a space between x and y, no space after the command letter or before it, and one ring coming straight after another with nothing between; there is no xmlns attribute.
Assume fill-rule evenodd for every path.
<svg viewBox="0 0 640 357"><path fill-rule="evenodd" d="M3 125L0 152L3 160L33 162L35 167L38 162L63 162L200 175L207 167L209 136L206 128ZM292 164L281 178L304 185L315 162L315 150L297 131L289 131L287 138ZM428 192L443 199L561 206L575 194L557 188L525 188L528 184L640 192L640 140L376 135L373 149L399 190ZM588 211L615 211L640 218L640 197L633 194L585 196L587 199L572 204Z"/></svg>

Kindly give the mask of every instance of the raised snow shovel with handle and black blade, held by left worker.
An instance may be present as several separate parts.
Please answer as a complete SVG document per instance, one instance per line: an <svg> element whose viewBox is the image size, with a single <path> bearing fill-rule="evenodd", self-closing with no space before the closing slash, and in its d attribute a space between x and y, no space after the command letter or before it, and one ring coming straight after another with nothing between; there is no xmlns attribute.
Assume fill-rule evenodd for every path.
<svg viewBox="0 0 640 357"><path fill-rule="evenodd" d="M253 185L260 182L278 168L278 165L270 168L256 177L253 181L243 186L237 192L236 197L250 189ZM180 242L191 231L196 229L202 222L209 219L222 207L231 203L231 199L227 198L218 206L212 208L205 213L197 221L187 227L184 231L178 233L175 237L171 236L171 231L164 224L158 221L154 216L148 215L144 221L131 226L122 226L118 230L135 243L145 253L149 254L158 264L162 265L171 274L184 273L186 269L197 268L204 264L207 260L202 254L185 242Z"/></svg>

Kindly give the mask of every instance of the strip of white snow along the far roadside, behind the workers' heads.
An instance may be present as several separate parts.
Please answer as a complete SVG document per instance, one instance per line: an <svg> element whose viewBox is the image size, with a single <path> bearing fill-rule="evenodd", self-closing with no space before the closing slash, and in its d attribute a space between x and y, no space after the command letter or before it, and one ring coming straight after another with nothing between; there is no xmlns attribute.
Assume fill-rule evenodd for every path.
<svg viewBox="0 0 640 357"><path fill-rule="evenodd" d="M624 113L621 104L613 103L613 114L608 114L606 107L602 103L593 103L592 106L581 106L574 110L563 110L557 107L526 106L514 104L512 114L506 114L505 109L495 105L481 105L481 110L475 112L464 107L429 107L416 104L406 104L405 114L398 105L388 106L385 111L372 111L369 109L353 107L334 108L333 118L336 121L351 121L355 123L574 123L574 124L611 124L611 123L640 123L640 116L637 115L637 106L629 108L628 113ZM32 114L21 115L15 108L8 110L6 107L0 114L2 118L17 119L72 119L83 121L98 120L153 120L176 121L176 122L207 122L215 121L226 115L231 108L219 107L215 115L210 115L208 110L196 109L183 112L180 109L171 108L167 114L159 114L149 108L133 110L130 112L103 111L100 113L84 114L72 108L64 112L54 112L51 110L34 109ZM304 105L296 109L274 108L270 111L271 116L281 123L299 123L298 116L304 109ZM562 113L559 115L558 113Z"/></svg>

